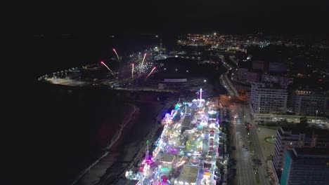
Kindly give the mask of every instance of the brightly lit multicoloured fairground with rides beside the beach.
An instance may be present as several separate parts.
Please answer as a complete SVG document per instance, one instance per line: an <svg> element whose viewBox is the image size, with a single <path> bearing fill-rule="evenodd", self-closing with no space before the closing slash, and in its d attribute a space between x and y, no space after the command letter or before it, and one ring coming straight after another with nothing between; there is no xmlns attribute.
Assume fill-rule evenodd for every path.
<svg viewBox="0 0 329 185"><path fill-rule="evenodd" d="M125 177L136 184L216 184L219 170L219 133L216 102L200 98L181 102L162 119L164 129L153 151L149 141L145 158Z"/></svg>

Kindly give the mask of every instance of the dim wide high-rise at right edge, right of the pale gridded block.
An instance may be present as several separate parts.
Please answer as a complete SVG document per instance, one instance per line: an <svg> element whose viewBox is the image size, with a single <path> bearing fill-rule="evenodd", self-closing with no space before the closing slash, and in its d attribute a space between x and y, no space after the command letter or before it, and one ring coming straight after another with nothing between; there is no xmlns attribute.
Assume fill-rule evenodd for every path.
<svg viewBox="0 0 329 185"><path fill-rule="evenodd" d="M325 113L328 96L323 90L295 90L293 94L293 109L295 114Z"/></svg>

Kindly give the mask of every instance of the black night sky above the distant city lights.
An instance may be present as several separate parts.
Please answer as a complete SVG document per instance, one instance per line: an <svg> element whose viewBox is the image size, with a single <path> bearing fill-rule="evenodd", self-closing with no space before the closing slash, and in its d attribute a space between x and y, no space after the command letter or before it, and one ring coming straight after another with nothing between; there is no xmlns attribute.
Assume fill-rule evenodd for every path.
<svg viewBox="0 0 329 185"><path fill-rule="evenodd" d="M26 1L14 4L34 33L326 33L328 1Z"/></svg>

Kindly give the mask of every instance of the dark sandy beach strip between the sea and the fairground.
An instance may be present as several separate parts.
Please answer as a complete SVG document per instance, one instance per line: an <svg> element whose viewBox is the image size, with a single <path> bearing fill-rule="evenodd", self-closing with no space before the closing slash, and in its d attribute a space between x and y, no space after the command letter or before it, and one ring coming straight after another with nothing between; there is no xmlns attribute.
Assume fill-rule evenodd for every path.
<svg viewBox="0 0 329 185"><path fill-rule="evenodd" d="M106 155L87 167L73 184L115 183L117 177L127 170L127 165L134 160L136 153L141 152L146 137L157 130L159 125L156 118L165 107L163 103L143 101L129 105L132 109L125 116L115 137L105 147Z"/></svg>

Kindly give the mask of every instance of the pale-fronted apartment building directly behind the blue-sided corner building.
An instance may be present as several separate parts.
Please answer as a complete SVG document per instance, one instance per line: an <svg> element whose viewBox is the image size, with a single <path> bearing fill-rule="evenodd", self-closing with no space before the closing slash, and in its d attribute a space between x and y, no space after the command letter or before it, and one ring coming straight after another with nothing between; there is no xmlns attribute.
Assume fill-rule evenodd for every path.
<svg viewBox="0 0 329 185"><path fill-rule="evenodd" d="M329 130L315 128L280 128L276 134L273 167L280 173L285 151L293 148L326 148L329 150ZM279 174L278 174L279 175Z"/></svg>

